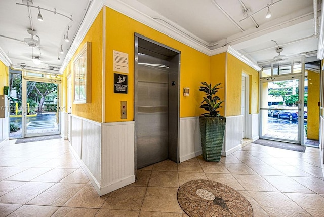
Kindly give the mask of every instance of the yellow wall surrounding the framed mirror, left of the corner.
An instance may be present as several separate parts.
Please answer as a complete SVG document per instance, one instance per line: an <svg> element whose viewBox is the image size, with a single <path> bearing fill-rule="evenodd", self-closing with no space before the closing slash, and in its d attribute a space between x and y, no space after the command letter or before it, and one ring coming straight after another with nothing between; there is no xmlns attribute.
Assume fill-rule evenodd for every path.
<svg viewBox="0 0 324 217"><path fill-rule="evenodd" d="M102 121L102 25L103 12L98 14L94 23L86 34L86 37L75 52L73 58L69 62L64 71L63 90L66 93L66 76L69 71L72 71L73 78L73 61L83 45L88 41L92 46L92 65L91 65L91 103L87 104L72 104L72 114L84 117L93 121ZM74 86L72 85L72 101L74 99ZM67 104L65 100L65 105Z"/></svg>

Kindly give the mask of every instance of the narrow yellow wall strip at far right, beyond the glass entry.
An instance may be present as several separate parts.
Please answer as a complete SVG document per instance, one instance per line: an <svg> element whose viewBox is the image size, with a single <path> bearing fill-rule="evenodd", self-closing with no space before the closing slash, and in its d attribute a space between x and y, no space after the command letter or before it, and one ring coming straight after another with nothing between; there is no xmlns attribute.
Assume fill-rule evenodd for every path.
<svg viewBox="0 0 324 217"><path fill-rule="evenodd" d="M319 73L308 70L307 138L319 138Z"/></svg>

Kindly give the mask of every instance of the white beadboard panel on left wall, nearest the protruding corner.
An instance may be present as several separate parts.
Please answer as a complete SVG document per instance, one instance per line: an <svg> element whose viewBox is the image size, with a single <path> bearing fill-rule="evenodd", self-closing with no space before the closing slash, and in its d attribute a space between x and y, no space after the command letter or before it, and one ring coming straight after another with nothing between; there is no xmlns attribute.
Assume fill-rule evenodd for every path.
<svg viewBox="0 0 324 217"><path fill-rule="evenodd" d="M100 183L101 123L82 119L81 160L95 180Z"/></svg>

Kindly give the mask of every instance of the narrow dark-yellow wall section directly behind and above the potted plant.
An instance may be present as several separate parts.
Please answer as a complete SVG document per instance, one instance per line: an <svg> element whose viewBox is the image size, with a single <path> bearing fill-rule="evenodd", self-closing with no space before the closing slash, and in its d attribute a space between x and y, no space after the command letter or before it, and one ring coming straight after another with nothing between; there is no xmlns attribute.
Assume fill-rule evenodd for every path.
<svg viewBox="0 0 324 217"><path fill-rule="evenodd" d="M221 83L219 87L222 87L222 89L219 89L217 92L217 95L221 100L225 99L225 71L226 71L226 52L217 54L214 56L211 56L211 80L210 82L212 85ZM222 107L219 109L219 114L221 116L224 116L224 106L225 102L222 103Z"/></svg>

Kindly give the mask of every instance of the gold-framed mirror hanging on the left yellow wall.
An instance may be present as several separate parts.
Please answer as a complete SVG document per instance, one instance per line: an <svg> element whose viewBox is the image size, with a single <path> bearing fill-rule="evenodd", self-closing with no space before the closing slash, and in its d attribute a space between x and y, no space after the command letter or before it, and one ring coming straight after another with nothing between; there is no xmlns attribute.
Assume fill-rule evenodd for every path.
<svg viewBox="0 0 324 217"><path fill-rule="evenodd" d="M74 104L91 103L91 42L86 42L73 61Z"/></svg>

